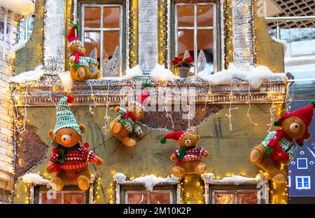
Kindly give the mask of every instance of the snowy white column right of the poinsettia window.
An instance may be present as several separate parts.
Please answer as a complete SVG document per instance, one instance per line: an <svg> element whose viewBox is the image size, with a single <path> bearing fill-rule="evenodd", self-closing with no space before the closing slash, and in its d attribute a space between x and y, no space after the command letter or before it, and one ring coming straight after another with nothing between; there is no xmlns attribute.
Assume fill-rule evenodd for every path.
<svg viewBox="0 0 315 218"><path fill-rule="evenodd" d="M240 68L254 64L253 1L232 0L233 60Z"/></svg>

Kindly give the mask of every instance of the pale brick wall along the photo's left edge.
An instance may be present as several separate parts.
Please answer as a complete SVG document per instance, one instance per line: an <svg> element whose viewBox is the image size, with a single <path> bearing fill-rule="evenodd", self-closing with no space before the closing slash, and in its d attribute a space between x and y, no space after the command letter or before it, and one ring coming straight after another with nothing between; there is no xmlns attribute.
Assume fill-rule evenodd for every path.
<svg viewBox="0 0 315 218"><path fill-rule="evenodd" d="M18 15L0 8L0 203L10 203L13 191L13 124L8 79L13 76L14 53L18 40Z"/></svg>

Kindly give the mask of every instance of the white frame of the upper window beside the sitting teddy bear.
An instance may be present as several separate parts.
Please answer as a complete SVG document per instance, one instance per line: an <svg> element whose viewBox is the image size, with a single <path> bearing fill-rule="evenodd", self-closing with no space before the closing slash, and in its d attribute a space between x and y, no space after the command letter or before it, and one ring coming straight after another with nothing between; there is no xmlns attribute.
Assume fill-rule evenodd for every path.
<svg viewBox="0 0 315 218"><path fill-rule="evenodd" d="M99 7L101 8L101 24L99 28L90 28L85 27L85 8L93 8ZM103 11L104 8L110 7L119 7L120 8L120 15L119 15L119 27L116 28L104 28L104 18L103 18ZM119 31L119 76L123 76L123 4L81 4L81 41L84 43L85 41L85 31L99 31L101 35L101 43L99 47L101 48L99 53L99 66L100 69L103 71L103 53L104 53L104 32L105 31ZM104 72L102 72L104 74Z"/></svg>

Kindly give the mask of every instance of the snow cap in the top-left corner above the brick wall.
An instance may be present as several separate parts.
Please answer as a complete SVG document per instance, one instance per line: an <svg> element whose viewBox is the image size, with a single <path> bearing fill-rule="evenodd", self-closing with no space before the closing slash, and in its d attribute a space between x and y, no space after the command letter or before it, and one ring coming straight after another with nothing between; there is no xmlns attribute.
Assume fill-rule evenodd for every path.
<svg viewBox="0 0 315 218"><path fill-rule="evenodd" d="M0 6L15 13L27 15L34 11L35 4L31 0L0 0Z"/></svg>

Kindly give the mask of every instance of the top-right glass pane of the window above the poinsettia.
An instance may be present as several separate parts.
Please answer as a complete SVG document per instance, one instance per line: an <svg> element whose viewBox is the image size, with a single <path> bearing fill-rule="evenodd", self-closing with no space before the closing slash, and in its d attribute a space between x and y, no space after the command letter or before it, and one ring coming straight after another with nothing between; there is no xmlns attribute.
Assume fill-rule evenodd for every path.
<svg viewBox="0 0 315 218"><path fill-rule="evenodd" d="M214 26L214 6L197 6L197 27Z"/></svg>

